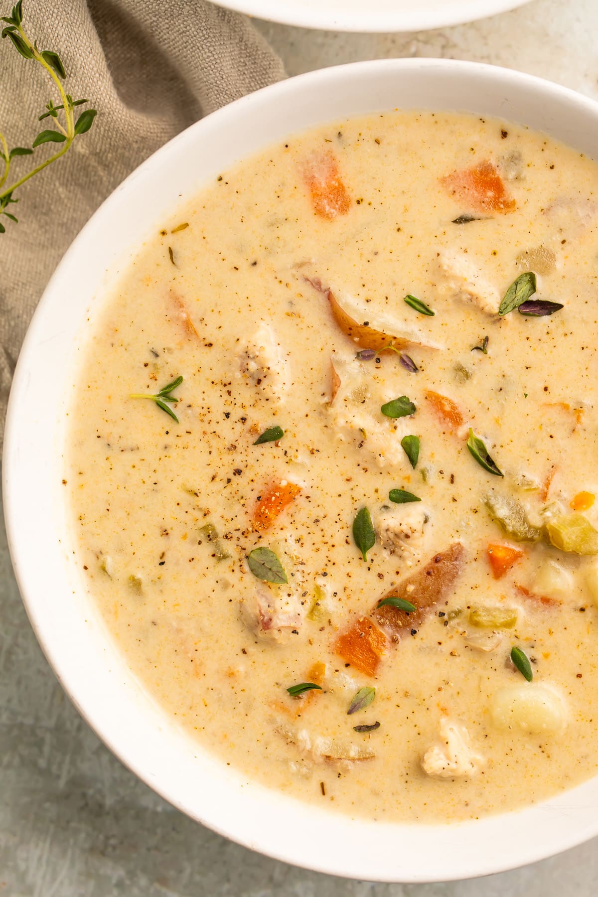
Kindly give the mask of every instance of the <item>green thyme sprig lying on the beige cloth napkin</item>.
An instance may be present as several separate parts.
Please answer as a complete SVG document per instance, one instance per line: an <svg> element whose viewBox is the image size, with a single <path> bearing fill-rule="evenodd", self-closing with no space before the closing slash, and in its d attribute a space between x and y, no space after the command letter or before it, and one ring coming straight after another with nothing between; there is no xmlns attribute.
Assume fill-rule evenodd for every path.
<svg viewBox="0 0 598 897"><path fill-rule="evenodd" d="M14 146L12 150L9 150L6 137L0 131L0 162L4 163L4 168L0 168L0 218L4 216L10 221L17 223L18 219L13 213L6 211L9 205L18 202L13 196L14 191L18 187L22 187L34 175L48 168L48 165L51 165L52 162L64 156L65 152L68 152L71 148L75 137L89 131L93 124L93 119L96 117L96 110L85 109L75 120L74 107L82 106L89 100L74 100L70 93L65 92L61 83L66 77L65 65L62 59L55 50L39 50L37 41L31 41L27 36L22 26L22 0L19 0L13 6L13 11L10 15L2 16L0 21L6 23L1 32L2 38L8 38L24 59L32 59L46 69L54 82L61 100L57 105L55 105L54 100L49 100L46 104L46 111L39 116L39 121L42 121L44 118L53 118L56 127L40 131L31 147ZM60 149L22 175L21 178L14 180L10 186L6 186L9 184L9 174L13 160L19 156L30 156L33 150L41 144L60 144ZM0 233L4 233L5 230L4 223L0 221Z"/></svg>

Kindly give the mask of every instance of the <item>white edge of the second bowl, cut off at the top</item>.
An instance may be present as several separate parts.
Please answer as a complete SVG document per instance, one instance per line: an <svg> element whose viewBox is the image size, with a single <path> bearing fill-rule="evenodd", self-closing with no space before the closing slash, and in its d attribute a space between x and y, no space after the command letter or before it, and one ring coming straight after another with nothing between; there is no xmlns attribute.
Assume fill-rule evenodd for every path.
<svg viewBox="0 0 598 897"><path fill-rule="evenodd" d="M507 13L530 0L445 0L431 9L418 3L403 5L389 12L372 11L363 2L358 10L334 10L322 3L308 9L299 0L217 0L221 6L257 19L330 31L362 31L381 34L386 31L426 31L475 22L490 15ZM407 2L407 0L405 0Z"/></svg>

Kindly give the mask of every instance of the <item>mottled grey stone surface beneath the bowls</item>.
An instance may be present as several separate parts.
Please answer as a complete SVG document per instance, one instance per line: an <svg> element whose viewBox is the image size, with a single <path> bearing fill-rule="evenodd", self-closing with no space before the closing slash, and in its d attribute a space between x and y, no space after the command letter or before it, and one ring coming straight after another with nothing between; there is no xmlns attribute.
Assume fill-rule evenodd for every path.
<svg viewBox="0 0 598 897"><path fill-rule="evenodd" d="M598 99L596 0L535 0L483 22L406 36L310 32L265 22L258 27L290 74L373 57L457 57L543 75ZM22 608L4 530L0 633L0 897L598 893L596 841L473 882L367 884L256 856L192 823L124 769L56 684Z"/></svg>

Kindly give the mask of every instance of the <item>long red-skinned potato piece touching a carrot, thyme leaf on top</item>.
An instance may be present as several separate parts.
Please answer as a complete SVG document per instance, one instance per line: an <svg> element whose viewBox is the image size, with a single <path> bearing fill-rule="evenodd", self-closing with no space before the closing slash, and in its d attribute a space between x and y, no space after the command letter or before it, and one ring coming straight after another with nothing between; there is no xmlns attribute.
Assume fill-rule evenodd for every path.
<svg viewBox="0 0 598 897"><path fill-rule="evenodd" d="M434 607L451 593L463 570L464 556L464 546L454 542L446 551L435 554L420 570L386 592L384 598L403 598L416 608L407 613L393 605L374 607L373 619L391 640L400 641L403 635L418 629Z"/></svg>

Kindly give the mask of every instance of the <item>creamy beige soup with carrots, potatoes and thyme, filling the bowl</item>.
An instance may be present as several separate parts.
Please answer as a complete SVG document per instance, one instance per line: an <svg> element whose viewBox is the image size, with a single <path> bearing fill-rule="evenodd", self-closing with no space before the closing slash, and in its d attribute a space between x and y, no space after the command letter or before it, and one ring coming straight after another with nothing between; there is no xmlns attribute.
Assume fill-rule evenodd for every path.
<svg viewBox="0 0 598 897"><path fill-rule="evenodd" d="M247 779L431 822L595 774L597 188L510 123L336 122L223 171L107 298L76 555Z"/></svg>

